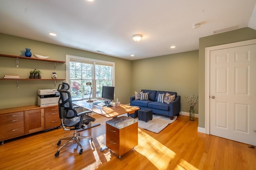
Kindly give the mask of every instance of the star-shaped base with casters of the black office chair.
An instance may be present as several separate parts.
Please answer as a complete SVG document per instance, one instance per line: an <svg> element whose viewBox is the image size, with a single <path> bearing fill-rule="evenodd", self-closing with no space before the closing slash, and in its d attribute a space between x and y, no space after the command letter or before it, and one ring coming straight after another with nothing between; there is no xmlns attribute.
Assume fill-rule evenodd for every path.
<svg viewBox="0 0 256 170"><path fill-rule="evenodd" d="M76 134L76 130L74 130L74 134L72 137L65 137L65 138L62 138L58 141L57 145L60 145L61 141L62 140L68 140L68 142L66 142L62 147L60 147L57 152L55 153L55 156L59 156L60 154L60 149L64 148L66 145L68 145L69 143L71 142L74 142L74 143L77 143L78 146L81 148L80 151L79 151L79 154L82 154L83 153L83 147L81 145L81 143L79 142L78 139L80 138L90 138L91 139L91 143L92 143L92 136L80 136L80 133Z"/></svg>

